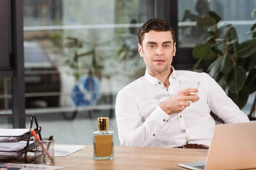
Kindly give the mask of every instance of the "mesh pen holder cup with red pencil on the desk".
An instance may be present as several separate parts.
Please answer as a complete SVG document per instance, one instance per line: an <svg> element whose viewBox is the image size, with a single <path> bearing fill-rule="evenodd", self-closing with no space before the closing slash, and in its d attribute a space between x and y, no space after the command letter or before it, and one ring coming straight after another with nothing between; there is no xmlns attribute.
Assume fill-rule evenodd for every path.
<svg viewBox="0 0 256 170"><path fill-rule="evenodd" d="M54 141L42 139L35 142L35 164L54 164Z"/></svg>

